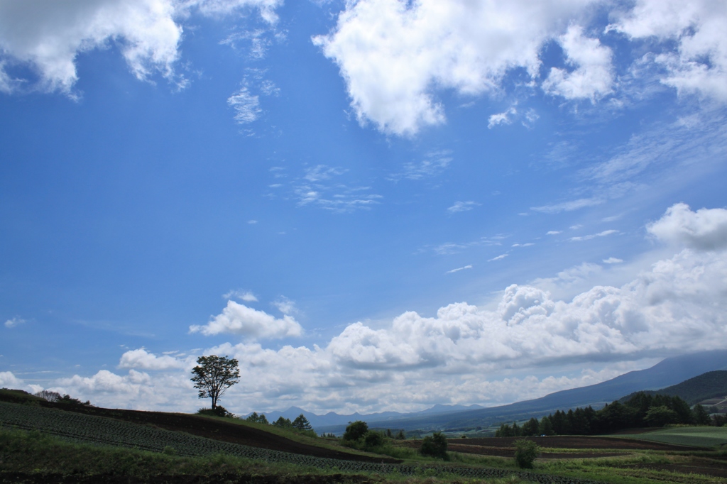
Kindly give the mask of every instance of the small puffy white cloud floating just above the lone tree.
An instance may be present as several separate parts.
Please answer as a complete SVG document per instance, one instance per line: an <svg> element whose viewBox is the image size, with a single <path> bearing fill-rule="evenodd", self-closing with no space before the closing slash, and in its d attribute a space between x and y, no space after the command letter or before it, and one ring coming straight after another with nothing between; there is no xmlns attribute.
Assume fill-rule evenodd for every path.
<svg viewBox="0 0 727 484"><path fill-rule="evenodd" d="M228 301L222 313L214 316L205 326L194 325L189 330L190 333L200 332L206 336L220 333L240 334L249 339L285 338L302 334L300 324L289 315L276 319L266 312L234 301Z"/></svg>

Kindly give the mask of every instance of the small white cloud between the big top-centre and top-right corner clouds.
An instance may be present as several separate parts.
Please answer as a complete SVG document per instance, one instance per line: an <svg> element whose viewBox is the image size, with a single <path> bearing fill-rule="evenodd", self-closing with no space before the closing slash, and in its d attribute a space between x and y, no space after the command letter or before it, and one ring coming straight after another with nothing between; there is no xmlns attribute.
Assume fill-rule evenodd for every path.
<svg viewBox="0 0 727 484"><path fill-rule="evenodd" d="M580 25L570 25L568 31L558 37L558 42L563 47L566 63L575 69L569 72L551 68L542 84L545 92L569 100L587 98L595 102L613 91L611 49L603 47L598 39L584 36Z"/></svg>

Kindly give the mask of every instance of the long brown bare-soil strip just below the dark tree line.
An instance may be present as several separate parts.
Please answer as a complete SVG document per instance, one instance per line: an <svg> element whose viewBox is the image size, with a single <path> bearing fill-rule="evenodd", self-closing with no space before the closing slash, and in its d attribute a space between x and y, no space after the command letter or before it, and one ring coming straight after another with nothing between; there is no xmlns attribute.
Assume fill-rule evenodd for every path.
<svg viewBox="0 0 727 484"><path fill-rule="evenodd" d="M703 451L699 447L672 445L647 440L622 439L617 437L587 437L579 435L553 435L551 437L485 437L480 439L451 439L450 445L480 445L483 447L514 447L515 440L527 438L544 448L608 448L643 451Z"/></svg>

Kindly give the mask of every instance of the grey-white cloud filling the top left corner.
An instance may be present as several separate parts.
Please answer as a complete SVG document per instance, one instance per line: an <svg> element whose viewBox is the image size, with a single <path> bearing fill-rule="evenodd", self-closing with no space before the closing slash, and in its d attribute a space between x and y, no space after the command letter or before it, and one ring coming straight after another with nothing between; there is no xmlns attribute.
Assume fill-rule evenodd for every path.
<svg viewBox="0 0 727 484"><path fill-rule="evenodd" d="M225 15L257 8L268 22L282 1L271 0L1 0L0 89L12 92L28 84L8 70L28 66L39 75L37 88L73 95L80 53L116 43L134 76L145 80L158 73L182 86L174 71L180 58L179 20L198 11Z"/></svg>

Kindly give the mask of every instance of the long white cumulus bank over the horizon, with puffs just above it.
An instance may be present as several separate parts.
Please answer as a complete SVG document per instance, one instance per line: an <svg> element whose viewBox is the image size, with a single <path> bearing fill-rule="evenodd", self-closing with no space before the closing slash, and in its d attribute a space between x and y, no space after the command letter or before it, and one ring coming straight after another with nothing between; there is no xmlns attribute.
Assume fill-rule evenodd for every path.
<svg viewBox="0 0 727 484"><path fill-rule="evenodd" d="M225 406L236 411L290 405L312 411L380 411L537 398L635 369L629 362L651 358L644 365L650 366L664 355L720 349L727 338L727 246L707 243L721 230L715 227L721 227L724 217L722 209L713 210L671 207L649 230L666 241L686 231L688 238L678 240L688 247L623 286L590 286L568 300L543 289L549 281L579 284L603 270L585 263L551 280L510 285L497 304L487 307L456 302L429 317L408 311L377 326L349 324L322 347L273 350L247 341L220 344L204 354L237 358L248 376L226 395L230 405ZM222 315L197 331L281 334L286 330L270 330L284 326L281 321L230 302ZM191 361L142 348L121 356L119 366L129 368L126 375L103 370L56 384L60 391L95 403L193 409L198 403L188 381ZM583 361L611 363L602 371L532 376L535 368L545 374L582 367ZM14 376L0 374L2 378ZM441 402L439 395L455 397Z"/></svg>

